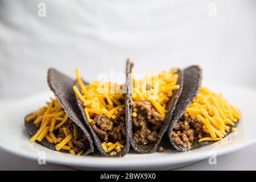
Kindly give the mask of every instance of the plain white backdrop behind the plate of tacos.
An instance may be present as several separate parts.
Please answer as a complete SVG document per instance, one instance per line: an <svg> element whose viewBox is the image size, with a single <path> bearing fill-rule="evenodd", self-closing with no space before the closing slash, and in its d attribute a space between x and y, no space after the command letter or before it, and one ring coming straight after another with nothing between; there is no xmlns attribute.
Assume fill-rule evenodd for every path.
<svg viewBox="0 0 256 182"><path fill-rule="evenodd" d="M40 2L46 4L46 17L38 16ZM210 3L216 17L209 16ZM0 102L48 90L49 67L72 77L79 67L91 81L110 69L123 73L127 57L139 73L200 64L207 86L256 89L255 10L254 0L0 0ZM255 154L255 146L250 151ZM255 169L250 166L255 156L247 150L241 155ZM0 152L1 160L9 157ZM222 165L218 169L238 169Z"/></svg>

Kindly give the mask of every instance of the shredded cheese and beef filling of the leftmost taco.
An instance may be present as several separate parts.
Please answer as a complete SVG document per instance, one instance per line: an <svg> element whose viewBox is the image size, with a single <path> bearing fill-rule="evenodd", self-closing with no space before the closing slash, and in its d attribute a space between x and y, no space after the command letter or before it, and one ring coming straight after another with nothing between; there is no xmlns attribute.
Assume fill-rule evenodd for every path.
<svg viewBox="0 0 256 182"><path fill-rule="evenodd" d="M65 150L73 155L81 155L87 149L88 139L68 117L56 98L47 102L47 106L28 115L25 120L33 122L38 128L30 142L46 139L49 143L56 144L57 151Z"/></svg>

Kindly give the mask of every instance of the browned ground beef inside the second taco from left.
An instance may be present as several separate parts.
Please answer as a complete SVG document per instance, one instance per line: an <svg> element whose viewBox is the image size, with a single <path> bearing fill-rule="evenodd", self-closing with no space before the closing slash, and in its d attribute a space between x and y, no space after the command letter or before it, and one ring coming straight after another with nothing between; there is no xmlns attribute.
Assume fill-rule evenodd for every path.
<svg viewBox="0 0 256 182"><path fill-rule="evenodd" d="M110 123L113 122L113 127L110 129ZM125 143L126 126L125 112L119 111L115 119L108 118L105 114L97 114L90 123L93 130L98 134L98 137L105 142L120 142Z"/></svg>

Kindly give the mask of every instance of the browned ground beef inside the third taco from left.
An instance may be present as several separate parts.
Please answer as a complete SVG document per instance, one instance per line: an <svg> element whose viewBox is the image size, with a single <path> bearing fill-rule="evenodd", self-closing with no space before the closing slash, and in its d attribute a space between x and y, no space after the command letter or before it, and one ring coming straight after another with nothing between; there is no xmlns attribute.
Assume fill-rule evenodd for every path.
<svg viewBox="0 0 256 182"><path fill-rule="evenodd" d="M134 141L140 144L155 142L158 130L163 125L162 115L147 100L133 102L131 106L138 110L137 117L133 117Z"/></svg>

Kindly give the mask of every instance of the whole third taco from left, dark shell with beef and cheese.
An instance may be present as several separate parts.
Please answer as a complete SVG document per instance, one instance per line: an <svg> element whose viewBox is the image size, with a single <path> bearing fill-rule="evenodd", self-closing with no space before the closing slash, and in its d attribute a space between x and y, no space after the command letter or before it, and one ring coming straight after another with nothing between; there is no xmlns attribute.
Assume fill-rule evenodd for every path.
<svg viewBox="0 0 256 182"><path fill-rule="evenodd" d="M183 88L183 71L172 69L158 75L148 73L141 80L130 74L132 93L129 122L130 143L139 153L152 152L170 125L171 116Z"/></svg>

